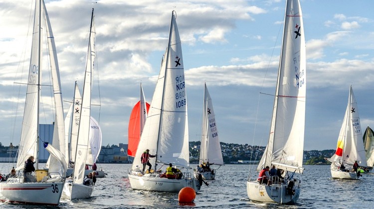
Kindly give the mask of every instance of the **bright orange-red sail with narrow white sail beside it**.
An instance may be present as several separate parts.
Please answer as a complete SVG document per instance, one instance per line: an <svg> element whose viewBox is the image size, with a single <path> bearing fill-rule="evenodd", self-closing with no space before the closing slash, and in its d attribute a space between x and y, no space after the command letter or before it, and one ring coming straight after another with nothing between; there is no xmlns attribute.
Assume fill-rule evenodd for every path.
<svg viewBox="0 0 374 209"><path fill-rule="evenodd" d="M128 128L129 146L127 149L127 155L131 163L133 162L136 150L138 149L140 136L142 135L144 124L146 123L149 107L150 104L146 102L143 87L142 84L140 84L140 101L135 104L131 111Z"/></svg>

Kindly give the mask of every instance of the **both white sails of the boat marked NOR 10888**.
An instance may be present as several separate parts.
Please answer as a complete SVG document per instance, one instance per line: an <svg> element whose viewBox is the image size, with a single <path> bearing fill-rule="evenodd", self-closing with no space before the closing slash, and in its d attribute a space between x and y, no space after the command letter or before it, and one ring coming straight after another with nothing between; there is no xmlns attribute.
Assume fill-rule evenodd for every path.
<svg viewBox="0 0 374 209"><path fill-rule="evenodd" d="M169 44L134 158L133 170L142 167L140 158L146 149L157 155L158 162L182 167L189 165L185 73L181 39L174 14Z"/></svg>

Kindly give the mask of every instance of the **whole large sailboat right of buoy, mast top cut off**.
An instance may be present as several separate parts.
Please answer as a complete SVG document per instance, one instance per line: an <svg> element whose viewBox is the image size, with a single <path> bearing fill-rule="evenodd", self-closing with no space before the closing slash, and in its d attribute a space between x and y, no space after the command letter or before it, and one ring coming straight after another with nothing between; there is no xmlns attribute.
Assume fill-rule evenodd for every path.
<svg viewBox="0 0 374 209"><path fill-rule="evenodd" d="M283 41L275 90L269 140L257 171L275 165L284 180L272 177L272 184L247 181L251 201L294 204L300 196L306 101L306 54L304 24L299 0L287 0Z"/></svg>

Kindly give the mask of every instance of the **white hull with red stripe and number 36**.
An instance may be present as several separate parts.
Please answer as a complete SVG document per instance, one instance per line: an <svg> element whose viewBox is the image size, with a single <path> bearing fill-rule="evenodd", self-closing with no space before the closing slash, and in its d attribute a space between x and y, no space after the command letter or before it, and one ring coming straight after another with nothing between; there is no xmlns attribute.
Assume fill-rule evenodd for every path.
<svg viewBox="0 0 374 209"><path fill-rule="evenodd" d="M57 206L64 182L1 182L0 200L9 203Z"/></svg>

